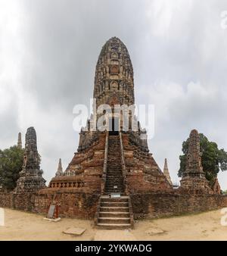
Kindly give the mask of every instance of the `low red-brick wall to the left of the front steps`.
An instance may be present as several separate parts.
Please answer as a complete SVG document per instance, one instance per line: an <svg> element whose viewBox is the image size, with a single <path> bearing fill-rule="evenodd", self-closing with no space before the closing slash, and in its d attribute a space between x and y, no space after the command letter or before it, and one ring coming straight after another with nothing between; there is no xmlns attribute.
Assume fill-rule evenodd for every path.
<svg viewBox="0 0 227 256"><path fill-rule="evenodd" d="M0 207L47 214L48 207L54 198L51 193L0 193ZM99 194L84 192L61 192L56 196L60 204L60 217L79 217L91 219L95 217Z"/></svg>

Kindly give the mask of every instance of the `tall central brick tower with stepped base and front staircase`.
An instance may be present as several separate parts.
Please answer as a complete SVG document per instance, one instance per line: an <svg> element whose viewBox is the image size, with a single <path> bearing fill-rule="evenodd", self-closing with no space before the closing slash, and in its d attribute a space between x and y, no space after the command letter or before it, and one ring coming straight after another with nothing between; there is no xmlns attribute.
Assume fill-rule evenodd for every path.
<svg viewBox="0 0 227 256"><path fill-rule="evenodd" d="M64 173L51 180L49 189L99 193L96 223L108 226L111 214L103 212L110 211L104 208L110 207L110 200L117 200L116 205L124 204L129 208L132 193L172 188L149 153L146 131L141 129L133 114L132 62L126 45L117 37L104 44L98 57L94 99L93 114L79 133L77 152ZM104 113L100 111L102 105L108 105L110 109L105 110L104 129L101 130L98 118ZM119 107L122 108L120 111ZM123 109L127 107L131 107L128 123L123 122ZM113 193L120 194L120 198L108 198ZM115 221L131 225L132 214L123 215L126 218L122 223Z"/></svg>

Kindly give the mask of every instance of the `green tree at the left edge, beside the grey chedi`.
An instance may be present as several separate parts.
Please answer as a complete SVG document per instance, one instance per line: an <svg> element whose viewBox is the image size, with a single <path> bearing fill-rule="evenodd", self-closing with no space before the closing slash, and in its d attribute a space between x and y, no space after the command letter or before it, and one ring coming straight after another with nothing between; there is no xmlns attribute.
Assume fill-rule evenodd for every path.
<svg viewBox="0 0 227 256"><path fill-rule="evenodd" d="M0 150L0 186L6 191L15 188L23 165L23 149L14 145Z"/></svg>

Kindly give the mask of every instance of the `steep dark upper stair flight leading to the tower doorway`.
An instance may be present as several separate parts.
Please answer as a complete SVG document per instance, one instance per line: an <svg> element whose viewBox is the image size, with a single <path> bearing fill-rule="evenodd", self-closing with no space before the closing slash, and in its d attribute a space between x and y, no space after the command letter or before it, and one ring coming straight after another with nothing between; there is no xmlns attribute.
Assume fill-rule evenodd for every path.
<svg viewBox="0 0 227 256"><path fill-rule="evenodd" d="M119 135L109 136L105 194L124 193Z"/></svg>

